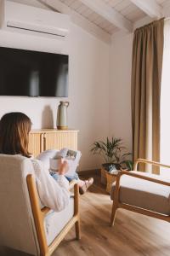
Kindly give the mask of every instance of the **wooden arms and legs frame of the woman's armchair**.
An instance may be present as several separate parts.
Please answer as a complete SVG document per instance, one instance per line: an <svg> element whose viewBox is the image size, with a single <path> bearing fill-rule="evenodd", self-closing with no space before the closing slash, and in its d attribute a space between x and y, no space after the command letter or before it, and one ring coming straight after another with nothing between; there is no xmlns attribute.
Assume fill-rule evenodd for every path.
<svg viewBox="0 0 170 256"><path fill-rule="evenodd" d="M28 192L31 201L31 210L37 230L37 240L40 247L41 255L51 255L54 249L59 245L59 242L65 237L68 230L71 229L73 224L76 225L76 235L77 239L80 239L80 218L79 218L79 206L78 206L78 184L77 181L71 182L70 188L74 186L74 215L69 220L65 227L60 231L59 235L54 238L54 241L48 246L47 237L44 230L44 218L45 215L51 211L48 207L40 208L39 197L37 193L37 186L35 179L32 174L28 174L26 177L26 182L28 186Z"/></svg>

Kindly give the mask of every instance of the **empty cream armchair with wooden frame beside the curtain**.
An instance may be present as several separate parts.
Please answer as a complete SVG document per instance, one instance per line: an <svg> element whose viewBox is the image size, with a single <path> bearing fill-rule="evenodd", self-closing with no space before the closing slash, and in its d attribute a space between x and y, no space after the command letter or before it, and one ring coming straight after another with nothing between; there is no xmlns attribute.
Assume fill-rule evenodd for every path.
<svg viewBox="0 0 170 256"><path fill-rule="evenodd" d="M170 168L160 163L138 159L132 172L119 172L111 187L111 225L118 208L170 221L170 179L148 172L137 172L139 162ZM170 174L170 172L169 172Z"/></svg>

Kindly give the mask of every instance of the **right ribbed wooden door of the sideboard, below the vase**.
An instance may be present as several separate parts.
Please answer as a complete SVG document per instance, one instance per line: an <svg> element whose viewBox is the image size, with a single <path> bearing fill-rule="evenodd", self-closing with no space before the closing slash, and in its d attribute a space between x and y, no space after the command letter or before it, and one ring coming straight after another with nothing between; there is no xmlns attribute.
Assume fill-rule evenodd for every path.
<svg viewBox="0 0 170 256"><path fill-rule="evenodd" d="M61 148L77 150L77 131L44 133L44 150Z"/></svg>

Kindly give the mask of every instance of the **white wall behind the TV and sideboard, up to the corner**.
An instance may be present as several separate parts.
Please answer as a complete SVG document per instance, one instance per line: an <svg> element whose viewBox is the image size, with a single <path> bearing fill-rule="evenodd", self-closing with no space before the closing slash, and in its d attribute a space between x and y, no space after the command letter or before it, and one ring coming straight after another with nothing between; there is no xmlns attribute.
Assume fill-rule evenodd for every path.
<svg viewBox="0 0 170 256"><path fill-rule="evenodd" d="M0 45L61 52L70 55L69 126L80 130L80 169L99 167L99 158L89 153L94 140L109 133L110 46L72 25L67 42L29 34L0 31ZM31 117L33 128L54 128L59 98L0 97L0 117L22 111Z"/></svg>

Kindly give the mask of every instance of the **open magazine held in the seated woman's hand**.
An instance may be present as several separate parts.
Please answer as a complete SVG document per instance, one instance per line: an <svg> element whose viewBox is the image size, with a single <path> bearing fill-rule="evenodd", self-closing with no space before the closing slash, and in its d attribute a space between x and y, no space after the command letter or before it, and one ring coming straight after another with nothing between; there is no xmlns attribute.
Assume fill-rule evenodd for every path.
<svg viewBox="0 0 170 256"><path fill-rule="evenodd" d="M49 149L43 151L37 156L48 171L57 172L59 170L60 159L63 158L69 165L69 170L66 175L72 176L77 171L77 166L82 154L80 151L62 148L61 150Z"/></svg>

